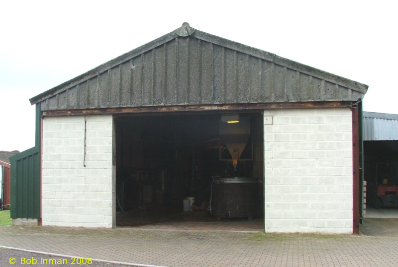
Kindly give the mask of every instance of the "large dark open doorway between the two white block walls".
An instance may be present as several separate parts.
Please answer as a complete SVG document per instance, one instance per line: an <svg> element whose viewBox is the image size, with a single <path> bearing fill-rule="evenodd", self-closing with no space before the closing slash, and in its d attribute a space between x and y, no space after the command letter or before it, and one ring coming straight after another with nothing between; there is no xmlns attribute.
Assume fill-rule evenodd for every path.
<svg viewBox="0 0 398 267"><path fill-rule="evenodd" d="M261 113L130 114L114 121L116 226L264 229Z"/></svg>

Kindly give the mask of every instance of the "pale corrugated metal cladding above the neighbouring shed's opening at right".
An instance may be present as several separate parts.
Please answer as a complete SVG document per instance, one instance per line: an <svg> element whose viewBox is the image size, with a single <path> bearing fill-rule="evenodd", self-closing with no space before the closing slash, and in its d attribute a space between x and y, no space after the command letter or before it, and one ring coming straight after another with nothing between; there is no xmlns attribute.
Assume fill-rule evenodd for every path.
<svg viewBox="0 0 398 267"><path fill-rule="evenodd" d="M363 112L364 141L398 140L398 115Z"/></svg>

